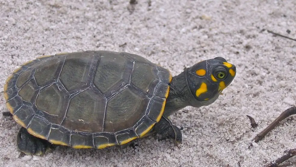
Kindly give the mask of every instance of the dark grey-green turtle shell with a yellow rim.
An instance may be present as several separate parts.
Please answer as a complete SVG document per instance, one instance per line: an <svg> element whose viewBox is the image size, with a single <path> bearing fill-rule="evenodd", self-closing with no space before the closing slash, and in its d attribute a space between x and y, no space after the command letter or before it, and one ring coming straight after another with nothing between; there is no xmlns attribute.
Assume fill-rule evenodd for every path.
<svg viewBox="0 0 296 167"><path fill-rule="evenodd" d="M6 106L27 131L53 144L105 148L144 136L165 108L170 72L126 52L42 56L4 85Z"/></svg>

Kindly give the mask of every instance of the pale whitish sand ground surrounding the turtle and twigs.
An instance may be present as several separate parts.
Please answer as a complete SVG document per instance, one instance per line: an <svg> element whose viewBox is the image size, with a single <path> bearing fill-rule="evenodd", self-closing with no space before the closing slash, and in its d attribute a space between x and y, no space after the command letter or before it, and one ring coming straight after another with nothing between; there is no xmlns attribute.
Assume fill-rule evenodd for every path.
<svg viewBox="0 0 296 167"><path fill-rule="evenodd" d="M294 0L138 0L136 5L129 0L0 0L1 112L8 111L3 98L6 78L41 55L124 51L173 75L184 66L222 56L237 69L233 83L215 103L187 107L172 116L173 123L184 128L179 146L148 137L136 140L135 147L57 147L45 156L23 156L15 140L20 125L1 115L0 166L261 167L277 159L284 150L296 148L295 116L254 147L248 149L248 143L296 105L296 42L261 30L296 38L295 8ZM246 115L254 117L257 128L251 128ZM291 158L282 166L295 166L295 161Z"/></svg>

